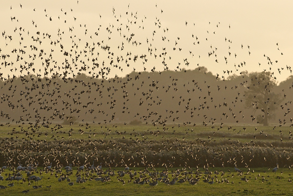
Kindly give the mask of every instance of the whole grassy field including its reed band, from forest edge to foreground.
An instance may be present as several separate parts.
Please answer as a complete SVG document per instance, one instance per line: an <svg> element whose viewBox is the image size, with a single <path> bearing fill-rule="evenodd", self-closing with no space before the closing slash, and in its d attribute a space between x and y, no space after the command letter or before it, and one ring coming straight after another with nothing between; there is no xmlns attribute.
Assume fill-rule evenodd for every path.
<svg viewBox="0 0 293 196"><path fill-rule="evenodd" d="M42 127L34 132L25 126L15 129L3 126L0 131L0 161L2 166L9 165L11 170L6 169L1 173L4 181L0 185L10 183L5 179L17 174L19 163L28 166L38 162L39 167L34 175L43 178L38 182L42 188L33 189L35 182L28 186L27 174L23 172L24 181L20 180L17 185L14 180L13 187L7 186L0 192L2 195L48 196L293 195L290 188L293 175L290 127L259 126L258 130L255 129L254 126L244 125L231 125L218 130L217 126L212 129L198 125L180 128L178 125L169 125L163 128L118 124L106 128L97 125L63 125ZM108 182L101 182L94 179L107 174L82 171L81 177L87 180L76 183L76 167L83 164L88 167L93 161L95 166L103 163L103 171L110 166L116 175L110 176ZM43 169L50 163L54 169L46 173ZM75 166L73 172L68 174L71 182L74 182L73 186L69 186L67 180L58 182L60 175L66 174L64 167L69 163ZM242 175L234 170L234 163L243 171ZM279 163L279 169L274 174L272 168L276 167L276 163ZM126 165L132 173L134 170L138 173L131 180L129 174L118 177L118 170L124 170ZM148 171L144 171L146 167ZM154 167L159 172L167 167L167 182L177 177L175 185L167 185L159 180L156 186L133 183L139 175L142 175L140 180L156 181L157 177L149 176ZM211 173L204 173L207 168ZM177 169L178 173L175 172ZM192 174L183 174L182 170ZM215 171L219 173L215 174ZM241 180L243 177L248 179L247 182ZM203 182L206 178L210 181L213 178L214 183ZM180 179L186 181L179 183ZM198 182L191 185L188 182L190 179L197 179ZM46 187L50 185L52 187ZM23 190L30 191L22 193Z"/></svg>

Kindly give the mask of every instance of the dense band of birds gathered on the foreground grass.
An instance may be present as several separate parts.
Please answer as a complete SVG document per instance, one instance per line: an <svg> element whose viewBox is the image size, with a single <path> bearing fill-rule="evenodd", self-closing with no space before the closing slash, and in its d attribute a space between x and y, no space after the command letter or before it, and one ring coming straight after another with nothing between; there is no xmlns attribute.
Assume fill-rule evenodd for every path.
<svg viewBox="0 0 293 196"><path fill-rule="evenodd" d="M5 171L6 169L6 171ZM64 170L62 170L64 169ZM20 164L16 171L13 172L14 175L7 174L7 167L3 166L1 168L1 173L5 173L6 176L8 176L5 180L8 181L9 184L7 184L8 187L13 187L14 182L17 181L17 185L19 180L21 180L21 184L28 182L28 186L32 185L33 189L40 189L42 188L42 185L38 185L39 181L42 181L43 176L39 177L34 174L42 175L43 173L51 173L50 176L55 177L55 181L58 180L59 183L64 183L62 181L67 182L67 185L73 186L75 184L80 183L86 183L87 181L94 181L94 182L100 182L100 183L106 183L110 182L111 180L116 180L118 182L121 182L122 185L134 183L137 185L145 185L148 184L149 186L156 186L159 183L165 184L165 185L175 185L176 183L182 184L182 183L189 183L190 185L197 185L198 183L207 183L209 185L212 185L214 183L218 184L234 184L237 181L239 185L242 183L241 181L248 182L249 180L258 180L258 177L262 182L268 182L270 175L267 176L261 176L260 173L257 175L255 174L255 177L253 178L251 173L255 173L254 170L250 171L247 170L246 173L243 173L243 171L239 170L236 167L234 167L235 171L227 170L226 172L223 170L215 170L214 172L210 171L209 168L204 168L203 171L200 171L199 168L195 169L194 171L192 169L188 168L182 168L177 170L168 170L168 168L163 169L161 172L156 171L155 168L153 168L151 171L149 171L148 168L142 169L142 170L130 170L129 167L125 167L124 170L116 170L109 167L108 169L102 169L102 163L100 163L99 166L88 166L84 167L84 165L77 167L76 171L72 168L71 164L69 166L66 166L64 168L52 168L52 164L50 166L45 166L42 169L38 169L37 165L30 165L29 167L22 167ZM277 167L273 168L272 172L276 174L276 171L278 169ZM269 168L270 170L270 168ZM12 170L10 170L12 171ZM75 172L75 174L74 174ZM251 173L250 173L251 172ZM266 172L264 172L266 173ZM282 175L283 172L281 172ZM244 177L242 177L244 175ZM234 177L235 176L235 177ZM70 177L74 177L74 182L71 182ZM234 177L234 180L232 179ZM238 177L238 178L237 178ZM128 181L125 181L124 179L127 178ZM280 176L277 176L278 179L281 179ZM47 178L48 181L51 179L51 177ZM3 181L4 177L0 176L0 181ZM232 180L232 181L231 181ZM292 182L290 179L288 182ZM45 182L43 182L45 183ZM34 185L35 184L35 185ZM8 188L7 186L0 185L1 189ZM52 185L46 186L47 189L51 189ZM29 190L23 190L23 193L28 193Z"/></svg>

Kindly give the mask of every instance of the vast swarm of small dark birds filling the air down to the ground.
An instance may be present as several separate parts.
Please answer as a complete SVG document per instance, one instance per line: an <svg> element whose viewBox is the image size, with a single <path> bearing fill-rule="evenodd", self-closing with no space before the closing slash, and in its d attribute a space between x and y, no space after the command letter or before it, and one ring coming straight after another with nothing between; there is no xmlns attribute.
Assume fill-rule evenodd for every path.
<svg viewBox="0 0 293 196"><path fill-rule="evenodd" d="M79 3L77 1L77 7ZM218 47L210 45L209 40L217 36L218 29L233 28L230 24L224 27L221 22L209 23L212 31L207 30L206 37L192 33L188 38L190 48L184 48L186 37L169 36L171 28L160 19L164 12L157 5L154 10L158 16L153 20L133 11L130 4L121 13L113 6L110 23L109 17L104 19L98 14L97 20L101 23L95 26L79 19L77 11L71 8L40 10L23 3L9 9L9 22L16 28L1 27L0 36L0 129L8 130L8 137L5 133L1 138L3 159L0 164L6 166L1 169L0 181L8 181L9 188L21 181L40 189L39 181L45 183L44 172L60 183L66 181L68 186L87 180L105 183L116 178L122 185L196 185L201 181L209 185L234 184L230 179L234 176L239 178L240 184L252 179L249 165L259 162L255 158L257 153L262 153L261 159L266 161L265 148L278 152L279 157L275 158L278 163L291 169L293 135L289 130L285 139L281 129L287 122L290 128L293 125L289 115L293 81L292 77L288 78L287 83L277 87L276 76L281 72L291 74L291 66L281 66L274 73L272 69L278 60L264 54L261 58L268 64L264 71L250 74L244 70L246 62L238 61L239 57L233 52L236 46L226 37L222 42L228 51L222 57ZM38 12L42 17L27 23L13 15L14 10L21 12L22 9L31 9L30 12ZM48 29L42 21L59 27ZM197 27L189 21L183 21L182 25L183 31L190 26ZM201 51L202 45L210 47ZM279 43L276 46L280 55L284 55ZM248 58L253 53L249 45L241 44L239 48ZM196 63L203 56L217 67L225 67L223 74L214 76ZM126 76L120 77L122 73ZM273 91L274 88L279 90ZM280 116L279 124L273 130L284 146L270 143L268 147L265 141L253 141L256 137L273 137L260 128L259 123L268 123L277 110L280 110L276 112ZM230 138L224 140L229 136L222 134L221 142L231 145L233 150L220 144L207 146L207 143L217 143L218 139L214 138L226 122L238 124L248 122L246 120L255 123L255 133L246 135L250 137L250 144ZM140 123L145 124L146 130L127 130L132 129L129 124L144 126ZM203 128L210 126L208 139L189 136L199 123ZM182 129L185 129L183 134ZM241 135L246 128L228 126L227 130ZM167 138L168 133L174 135L173 139ZM81 138L73 138L74 134ZM95 139L96 135L101 137ZM162 137L157 139L158 135ZM247 153L241 155L239 149ZM212 153L212 158L208 160L200 153ZM152 158L156 156L159 158ZM236 163L247 167L247 173L238 169ZM278 163L272 169L275 175ZM209 166L214 165L234 165L236 173L212 172ZM182 169L169 170L175 166ZM199 166L204 166L204 171L200 171ZM117 171L116 167L125 169ZM145 169L134 170L134 167ZM155 167L163 167L163 170L159 172ZM129 176L128 181L124 180L125 176ZM256 175L255 180L257 177L265 182L265 176ZM70 178L74 180L71 182ZM7 186L0 185L0 188Z"/></svg>

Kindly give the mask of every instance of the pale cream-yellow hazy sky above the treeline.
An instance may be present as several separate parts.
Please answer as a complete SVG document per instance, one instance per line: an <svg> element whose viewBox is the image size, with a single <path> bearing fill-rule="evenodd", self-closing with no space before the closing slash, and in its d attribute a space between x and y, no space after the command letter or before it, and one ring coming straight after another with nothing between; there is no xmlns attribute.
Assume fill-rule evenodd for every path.
<svg viewBox="0 0 293 196"><path fill-rule="evenodd" d="M96 63L102 65L104 61L105 67L110 67L108 77L113 77L115 74L125 76L134 68L136 71L143 71L145 67L146 71L151 71L155 67L155 71L162 71L164 61L169 70L179 71L180 68L195 69L198 66L205 66L213 74L219 73L225 78L228 75L224 74L223 70L232 70L233 73L239 74L244 70L268 71L271 68L277 80L282 81L291 74L286 66L292 66L290 59L293 53L292 6L292 1L80 0L78 4L77 0L5 1L0 7L2 19L0 31L2 33L5 31L4 36L0 35L0 54L9 54L10 57L5 60L1 58L1 63L13 62L13 66L6 68L1 66L0 72L3 73L3 77L7 77L8 74L19 75L20 66L25 65L26 61L34 63L34 66L28 69L30 73L33 73L32 69L35 68L35 73L43 76L42 62L45 58L49 58L51 53L52 60L57 61L56 68L53 66L55 62L51 61L50 68L54 70L52 73L56 71L62 73L64 71L62 63L65 58L72 63L71 58L75 59L75 56L82 51L76 66L71 64L75 74L84 64L90 68L80 71L81 73L89 74L89 71L91 74L98 73L101 66L92 69L92 59L96 58ZM11 17L15 19L11 21ZM59 36L58 29L60 29ZM38 31L40 34L37 34ZM43 33L51 35L50 39L46 35L43 36ZM11 41L8 36L11 36ZM39 40L33 41L32 36ZM131 41L128 42L127 38L130 37L132 37ZM54 42L57 40L60 42L55 46ZM132 43L134 41L135 43ZM87 47L85 47L86 42ZM97 45L98 42L100 46ZM123 50L121 50L122 42ZM64 47L62 52L60 44ZM77 44L78 48L74 44ZM31 45L38 47L38 51L31 50ZM27 47L23 48L24 46ZM110 46L110 54L108 51L103 51L101 46ZM90 55L89 50L93 47L95 50L93 55ZM25 50L25 54L19 53L18 50L21 48ZM18 52L11 53L14 49ZM43 59L39 58L41 49L46 53L43 54ZM72 56L64 56L64 51L71 53ZM84 53L84 51L88 52ZM166 55L159 56L165 52ZM132 54L127 56L127 53ZM209 53L212 55L209 56ZM35 59L33 54L36 55ZM23 59L17 61L17 55L22 56ZM143 55L147 55L147 61L140 58ZM137 56L136 62L133 61L135 56ZM268 57L272 64L268 64ZM120 59L119 62L117 58ZM183 60L186 58L188 66ZM113 60L112 65L110 65L111 60ZM117 68L113 65L117 65ZM58 66L61 68L60 71ZM38 71L39 69L41 71ZM26 73L23 71L22 74Z"/></svg>

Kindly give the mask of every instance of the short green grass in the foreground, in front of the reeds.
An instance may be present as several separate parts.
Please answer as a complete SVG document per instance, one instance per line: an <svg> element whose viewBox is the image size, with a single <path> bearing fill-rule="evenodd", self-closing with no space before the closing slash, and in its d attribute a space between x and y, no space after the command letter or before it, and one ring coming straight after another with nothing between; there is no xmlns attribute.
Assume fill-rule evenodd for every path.
<svg viewBox="0 0 293 196"><path fill-rule="evenodd" d="M116 168L123 170L123 168ZM138 168L136 168L138 169ZM241 168L247 171L247 168ZM210 185L202 180L205 180L207 175L199 174L200 181L196 185L191 185L188 182L175 183L175 185L167 185L159 182L157 186L149 186L148 184L139 185L127 181L130 179L129 175L125 175L123 180L126 184L117 180L117 177L111 177L109 182L100 182L96 180L87 180L85 183L75 183L76 177L70 176L71 181L74 182L73 186L69 186L66 180L58 182L57 178L50 176L50 174L43 173L42 180L38 182L42 188L33 189L33 185L28 186L28 182L14 182L13 187L8 187L1 190L2 195L23 195L21 191L30 190L27 195L293 195L292 170L280 168L276 175L272 174L272 169L268 168L255 168L248 174L243 174L249 179L247 182L240 180L243 176L238 176L234 168L209 168L213 173L211 177L214 178L214 184ZM223 171L224 174L214 174L215 171ZM229 172L230 170L231 172ZM139 170L137 170L139 171ZM281 174L281 171L284 173ZM76 172L76 169L75 169ZM133 172L133 171L132 171ZM170 171L169 171L170 172ZM200 169L198 172L205 172L205 169ZM8 173L8 171L6 171ZM244 173L244 172L243 172ZM146 174L147 175L147 174ZM195 174L193 174L195 177ZM232 177L232 175L234 175ZM260 176L258 176L260 175ZM190 177L191 175L189 175ZM50 177L49 180L47 178ZM171 178L171 175L169 175ZM255 177L257 180L255 180ZM88 177L90 179L90 177ZM120 178L121 179L121 178ZM179 177L182 179L182 177ZM228 181L229 183L228 183ZM218 181L218 182L217 182ZM223 181L223 182L222 182ZM1 185L7 186L8 182L3 181ZM52 186L50 188L46 186Z"/></svg>

